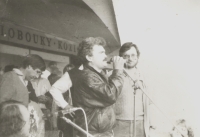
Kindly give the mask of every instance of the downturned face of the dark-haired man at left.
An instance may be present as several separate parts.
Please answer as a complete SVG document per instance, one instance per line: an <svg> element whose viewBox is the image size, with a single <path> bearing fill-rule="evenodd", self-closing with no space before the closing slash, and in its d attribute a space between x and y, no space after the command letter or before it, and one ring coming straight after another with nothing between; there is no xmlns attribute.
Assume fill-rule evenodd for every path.
<svg viewBox="0 0 200 137"><path fill-rule="evenodd" d="M26 68L26 73L25 73L25 79L30 81L35 78L39 78L39 76L42 74L42 71L38 68L33 69L31 66L28 66Z"/></svg>

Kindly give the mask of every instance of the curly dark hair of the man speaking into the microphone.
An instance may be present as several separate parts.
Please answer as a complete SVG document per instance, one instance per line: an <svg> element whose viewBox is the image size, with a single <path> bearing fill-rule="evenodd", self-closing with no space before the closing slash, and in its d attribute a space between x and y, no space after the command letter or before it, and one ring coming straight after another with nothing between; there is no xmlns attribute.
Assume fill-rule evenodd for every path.
<svg viewBox="0 0 200 137"><path fill-rule="evenodd" d="M83 64L88 62L86 55L92 56L94 45L100 45L104 47L106 46L106 41L101 37L88 37L79 44L77 55Z"/></svg>

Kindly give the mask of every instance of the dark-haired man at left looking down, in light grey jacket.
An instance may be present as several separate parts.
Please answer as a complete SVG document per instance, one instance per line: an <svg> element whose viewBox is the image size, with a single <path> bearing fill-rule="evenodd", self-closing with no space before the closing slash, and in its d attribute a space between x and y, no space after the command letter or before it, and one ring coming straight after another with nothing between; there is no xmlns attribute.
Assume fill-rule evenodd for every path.
<svg viewBox="0 0 200 137"><path fill-rule="evenodd" d="M44 60L35 54L27 55L20 68L4 73L0 82L0 103L6 100L17 100L28 106L28 81L37 78L45 70Z"/></svg>

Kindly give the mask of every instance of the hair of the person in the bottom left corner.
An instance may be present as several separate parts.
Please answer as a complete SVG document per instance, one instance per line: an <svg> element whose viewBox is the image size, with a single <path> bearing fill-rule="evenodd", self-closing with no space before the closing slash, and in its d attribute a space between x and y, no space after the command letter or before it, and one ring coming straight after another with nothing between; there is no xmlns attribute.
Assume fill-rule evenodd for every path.
<svg viewBox="0 0 200 137"><path fill-rule="evenodd" d="M15 100L0 104L0 136L17 134L25 125L19 105L23 104Z"/></svg>

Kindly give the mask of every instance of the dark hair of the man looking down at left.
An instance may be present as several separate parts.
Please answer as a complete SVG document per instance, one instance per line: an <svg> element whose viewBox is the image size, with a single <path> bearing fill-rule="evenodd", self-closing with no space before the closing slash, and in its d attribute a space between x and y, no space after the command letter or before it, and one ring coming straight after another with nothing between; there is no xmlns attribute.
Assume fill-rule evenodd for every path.
<svg viewBox="0 0 200 137"><path fill-rule="evenodd" d="M42 59L42 57L40 57L39 55L35 55L35 54L27 55L24 58L22 67L26 68L29 65L33 69L40 69L41 71L44 71L46 69L45 62Z"/></svg>

